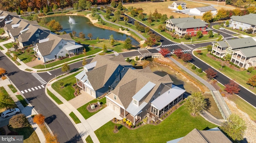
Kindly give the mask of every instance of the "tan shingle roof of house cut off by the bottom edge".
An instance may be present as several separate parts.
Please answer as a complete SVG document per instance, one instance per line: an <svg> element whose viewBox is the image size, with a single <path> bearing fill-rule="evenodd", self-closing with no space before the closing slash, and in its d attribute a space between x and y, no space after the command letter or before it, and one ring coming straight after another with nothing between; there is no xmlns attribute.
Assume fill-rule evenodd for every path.
<svg viewBox="0 0 256 143"><path fill-rule="evenodd" d="M208 130L193 129L185 137L180 137L166 143L232 143L218 127Z"/></svg>

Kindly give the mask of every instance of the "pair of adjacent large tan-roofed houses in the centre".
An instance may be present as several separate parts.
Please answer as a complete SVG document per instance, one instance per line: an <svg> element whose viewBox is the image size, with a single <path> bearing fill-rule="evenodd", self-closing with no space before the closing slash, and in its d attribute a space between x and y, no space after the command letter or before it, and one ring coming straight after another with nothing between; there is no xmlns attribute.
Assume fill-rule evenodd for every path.
<svg viewBox="0 0 256 143"><path fill-rule="evenodd" d="M122 55L96 55L75 77L77 85L94 98L108 93L107 106L133 124L145 117L156 121L186 92L173 85L168 74L162 77L149 68L134 69Z"/></svg>

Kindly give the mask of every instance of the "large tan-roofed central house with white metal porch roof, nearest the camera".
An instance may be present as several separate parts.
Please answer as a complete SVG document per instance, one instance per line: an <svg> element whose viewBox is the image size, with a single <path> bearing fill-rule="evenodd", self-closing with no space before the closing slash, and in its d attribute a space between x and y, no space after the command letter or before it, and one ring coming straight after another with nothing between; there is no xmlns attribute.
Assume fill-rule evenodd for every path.
<svg viewBox="0 0 256 143"><path fill-rule="evenodd" d="M105 96L106 104L134 125L145 117L156 121L182 101L186 92L172 83L168 74L159 76L149 67L128 69L116 88Z"/></svg>

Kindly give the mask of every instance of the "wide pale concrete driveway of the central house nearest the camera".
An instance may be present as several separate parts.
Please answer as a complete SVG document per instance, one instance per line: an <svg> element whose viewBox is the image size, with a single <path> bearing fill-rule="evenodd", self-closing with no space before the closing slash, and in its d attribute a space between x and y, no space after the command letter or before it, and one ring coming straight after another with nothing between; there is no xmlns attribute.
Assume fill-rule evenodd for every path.
<svg viewBox="0 0 256 143"><path fill-rule="evenodd" d="M98 128L100 128L102 125L104 125L113 118L122 119L119 114L117 114L114 110L106 107L100 112L94 114L92 117L86 119L86 121L92 127L92 130L96 131Z"/></svg>

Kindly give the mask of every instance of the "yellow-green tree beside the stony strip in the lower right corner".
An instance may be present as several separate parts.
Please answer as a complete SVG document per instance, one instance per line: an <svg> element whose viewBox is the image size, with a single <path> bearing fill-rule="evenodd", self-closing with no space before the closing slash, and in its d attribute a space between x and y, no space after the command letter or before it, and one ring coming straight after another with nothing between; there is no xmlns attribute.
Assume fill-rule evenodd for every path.
<svg viewBox="0 0 256 143"><path fill-rule="evenodd" d="M220 129L234 141L241 141L244 139L246 123L240 116L231 114L226 121L221 124Z"/></svg>

